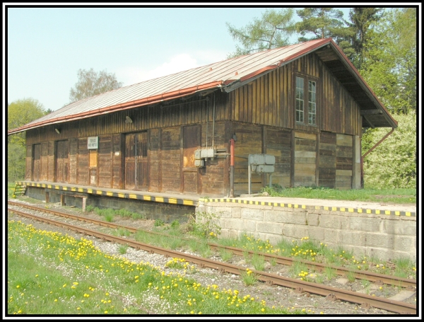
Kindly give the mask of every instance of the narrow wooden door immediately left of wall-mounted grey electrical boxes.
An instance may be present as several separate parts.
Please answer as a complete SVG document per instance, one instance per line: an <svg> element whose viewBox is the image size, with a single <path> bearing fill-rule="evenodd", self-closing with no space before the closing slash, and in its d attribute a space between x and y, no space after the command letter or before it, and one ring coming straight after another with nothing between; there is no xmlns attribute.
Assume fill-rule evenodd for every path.
<svg viewBox="0 0 424 322"><path fill-rule="evenodd" d="M198 176L199 171L194 166L194 151L200 146L199 125L184 127L183 129L183 183L184 192L199 193Z"/></svg>

